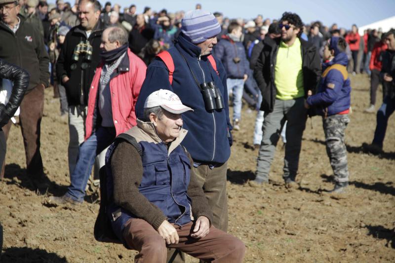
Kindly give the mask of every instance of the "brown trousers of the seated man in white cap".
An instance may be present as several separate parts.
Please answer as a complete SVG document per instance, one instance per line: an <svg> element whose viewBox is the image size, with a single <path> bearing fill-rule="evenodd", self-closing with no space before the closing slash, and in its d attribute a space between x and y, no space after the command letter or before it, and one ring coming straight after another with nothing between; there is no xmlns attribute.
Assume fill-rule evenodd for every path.
<svg viewBox="0 0 395 263"><path fill-rule="evenodd" d="M242 262L245 245L237 237L219 230L213 226L203 238L195 239L190 236L194 227L190 222L186 225L173 225L180 238L178 244L167 245L177 248L193 257L209 262ZM131 249L139 251L134 258L135 263L165 263L166 243L158 231L143 219L129 219L123 230L123 238Z"/></svg>

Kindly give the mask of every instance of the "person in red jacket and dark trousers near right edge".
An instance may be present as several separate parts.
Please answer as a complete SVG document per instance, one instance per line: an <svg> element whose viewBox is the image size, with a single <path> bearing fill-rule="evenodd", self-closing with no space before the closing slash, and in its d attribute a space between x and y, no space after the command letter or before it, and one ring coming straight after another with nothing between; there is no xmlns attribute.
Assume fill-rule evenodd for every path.
<svg viewBox="0 0 395 263"><path fill-rule="evenodd" d="M370 57L369 69L370 74L370 106L365 110L365 113L375 113L376 108L376 92L377 87L380 83L380 72L382 68L382 52L387 50L387 44L385 43L385 34L382 36L382 40L377 42L372 50L372 55ZM383 100L386 95L387 84L383 82Z"/></svg>

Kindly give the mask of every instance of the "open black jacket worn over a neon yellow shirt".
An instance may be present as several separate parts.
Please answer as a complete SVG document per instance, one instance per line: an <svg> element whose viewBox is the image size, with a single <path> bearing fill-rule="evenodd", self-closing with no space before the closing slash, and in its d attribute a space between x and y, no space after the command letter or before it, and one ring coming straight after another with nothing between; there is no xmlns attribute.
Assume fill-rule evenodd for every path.
<svg viewBox="0 0 395 263"><path fill-rule="evenodd" d="M316 47L307 41L300 39L302 53L302 70L305 97L308 90L313 94L316 91L316 85L321 76L321 61ZM254 77L262 92L261 111L268 113L273 112L276 101L277 89L275 85L275 68L278 43L264 40L264 48L259 56L255 69Z"/></svg>

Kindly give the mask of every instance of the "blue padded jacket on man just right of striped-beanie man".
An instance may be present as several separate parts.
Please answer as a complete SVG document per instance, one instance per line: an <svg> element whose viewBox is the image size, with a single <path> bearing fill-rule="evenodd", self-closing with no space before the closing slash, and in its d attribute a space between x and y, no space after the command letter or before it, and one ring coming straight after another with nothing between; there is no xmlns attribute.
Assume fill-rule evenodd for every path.
<svg viewBox="0 0 395 263"><path fill-rule="evenodd" d="M248 75L249 63L241 42L223 36L214 48L214 56L224 64L229 78L243 78L244 74ZM239 58L238 63L235 63L235 58Z"/></svg>

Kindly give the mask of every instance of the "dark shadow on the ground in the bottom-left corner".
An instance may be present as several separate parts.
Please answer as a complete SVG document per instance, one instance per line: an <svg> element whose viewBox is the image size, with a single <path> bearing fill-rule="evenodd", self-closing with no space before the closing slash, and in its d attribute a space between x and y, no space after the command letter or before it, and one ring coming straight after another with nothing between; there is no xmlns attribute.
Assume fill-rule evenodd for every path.
<svg viewBox="0 0 395 263"><path fill-rule="evenodd" d="M55 253L48 253L42 249L32 249L28 247L11 247L3 250L0 256L2 263L67 263L66 258Z"/></svg>

